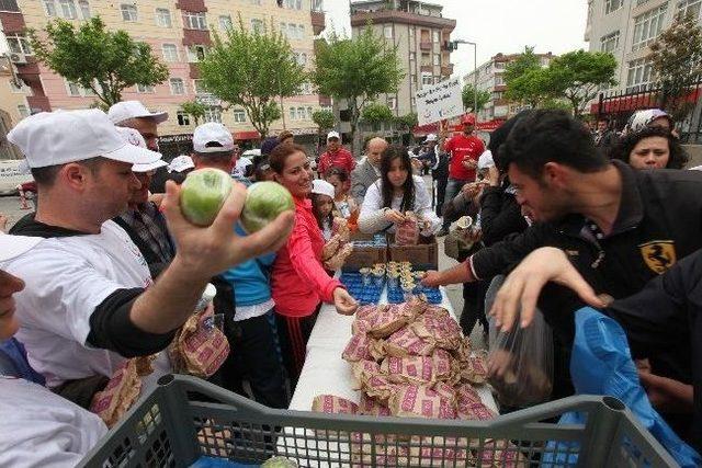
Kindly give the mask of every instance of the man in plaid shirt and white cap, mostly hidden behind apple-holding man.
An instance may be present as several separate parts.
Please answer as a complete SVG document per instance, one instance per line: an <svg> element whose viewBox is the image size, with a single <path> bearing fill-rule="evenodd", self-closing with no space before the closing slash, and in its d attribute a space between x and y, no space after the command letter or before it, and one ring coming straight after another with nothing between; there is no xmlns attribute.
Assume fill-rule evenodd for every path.
<svg viewBox="0 0 702 468"><path fill-rule="evenodd" d="M134 128L118 127L117 132L129 145L146 149L144 137ZM160 157L160 153L157 153ZM132 171L140 186L132 191L127 209L113 220L122 227L149 265L151 277L156 278L173 260L176 246L168 233L166 218L156 203L149 201L149 185L157 169L168 165L159 159L156 162L134 164Z"/></svg>

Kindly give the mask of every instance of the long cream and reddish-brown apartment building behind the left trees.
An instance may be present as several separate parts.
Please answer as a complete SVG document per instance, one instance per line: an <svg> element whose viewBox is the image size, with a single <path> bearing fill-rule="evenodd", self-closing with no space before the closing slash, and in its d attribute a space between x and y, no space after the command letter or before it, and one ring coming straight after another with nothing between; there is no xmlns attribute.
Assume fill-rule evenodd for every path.
<svg viewBox="0 0 702 468"><path fill-rule="evenodd" d="M124 30L149 44L154 54L169 69L166 82L155 87L136 85L123 93L124 100L140 100L152 110L168 111L169 119L160 127L161 149L173 153L186 150L194 129L191 117L180 111L183 102L199 100L208 106L205 121L222 122L231 128L235 138L259 138L242 109L225 109L215 96L205 92L197 62L212 45L212 31L224 32L238 24L257 30L273 23L288 38L298 61L312 67L315 36L325 27L322 0L140 0L104 2L100 0L0 0L0 43L9 49L16 76L31 89L26 96L27 113L57 109L86 109L95 98L90 90L68 82L37 64L26 38L25 27L41 30L47 22L60 18L79 24L100 15L107 27ZM322 104L326 102L322 100ZM320 107L320 96L312 85L301 94L283 100L284 118L271 126L276 133L283 127L314 139L317 128L312 121Z"/></svg>

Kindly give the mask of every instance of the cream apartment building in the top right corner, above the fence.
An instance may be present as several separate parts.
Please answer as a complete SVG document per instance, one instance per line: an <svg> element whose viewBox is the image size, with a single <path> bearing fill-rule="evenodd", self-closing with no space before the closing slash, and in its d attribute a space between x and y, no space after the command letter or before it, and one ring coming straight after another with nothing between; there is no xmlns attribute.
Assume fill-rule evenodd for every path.
<svg viewBox="0 0 702 468"><path fill-rule="evenodd" d="M616 57L612 90L636 92L654 80L648 46L677 14L692 14L700 21L702 0L588 0L585 41L591 52Z"/></svg>

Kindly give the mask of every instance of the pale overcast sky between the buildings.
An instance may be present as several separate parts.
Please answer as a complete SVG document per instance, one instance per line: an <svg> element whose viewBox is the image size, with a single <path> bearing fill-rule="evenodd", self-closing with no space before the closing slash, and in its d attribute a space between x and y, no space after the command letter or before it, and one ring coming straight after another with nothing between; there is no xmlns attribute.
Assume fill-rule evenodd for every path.
<svg viewBox="0 0 702 468"><path fill-rule="evenodd" d="M525 45L537 53L587 50L582 39L587 0L433 0L444 7L444 18L456 20L452 38L477 43L478 66L498 53L521 52ZM327 27L351 32L349 0L325 0ZM473 70L473 46L451 54L454 73Z"/></svg>

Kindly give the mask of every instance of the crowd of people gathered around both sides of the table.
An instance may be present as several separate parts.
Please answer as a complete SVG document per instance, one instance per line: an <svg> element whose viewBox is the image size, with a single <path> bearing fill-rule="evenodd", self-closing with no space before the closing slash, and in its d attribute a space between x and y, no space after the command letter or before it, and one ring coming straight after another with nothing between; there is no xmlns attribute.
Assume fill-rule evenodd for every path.
<svg viewBox="0 0 702 468"><path fill-rule="evenodd" d="M146 388L172 372L169 345L208 283L207 311L223 318L231 350L208 379L287 408L320 305L358 307L322 260L336 218L369 235L398 235L411 220L424 241L462 238L460 263L422 282L463 284L466 334L477 322L487 333L486 311L502 330L543 313L561 364L553 399L574 391L573 312L602 309L646 363L652 402L701 448L702 173L682 170L665 113L634 115L616 135L607 122L590 132L563 112L525 111L487 147L467 115L455 135L442 125L416 152L370 138L358 162L330 132L317 174L292 134L244 161L218 123L197 126L192 153L167 163L166 118L127 101L107 113L36 114L8 135L37 207L0 235L0 466L77 463L106 432L89 411L94 396L132 358L152 363ZM234 181L206 227L180 209L180 184L203 168ZM238 220L256 181L283 185L294 210L247 233ZM469 226L451 230L464 216ZM494 281L503 284L486 304Z"/></svg>

